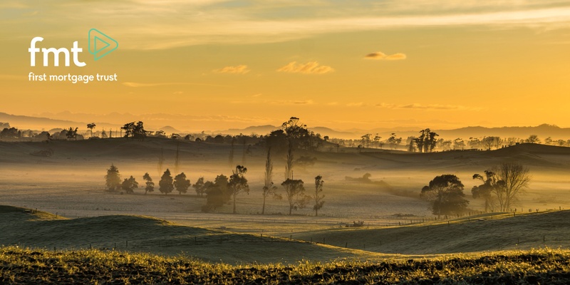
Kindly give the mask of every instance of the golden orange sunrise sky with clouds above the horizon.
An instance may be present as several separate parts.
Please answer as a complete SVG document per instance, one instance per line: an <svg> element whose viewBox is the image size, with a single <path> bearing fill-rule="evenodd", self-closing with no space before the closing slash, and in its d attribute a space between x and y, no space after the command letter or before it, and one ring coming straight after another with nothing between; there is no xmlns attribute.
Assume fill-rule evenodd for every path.
<svg viewBox="0 0 570 285"><path fill-rule="evenodd" d="M570 127L570 1L5 0L0 26L4 113L189 131L291 116L337 130ZM118 48L95 61L91 28ZM86 66L44 67L41 52L31 66L36 36L78 41Z"/></svg>

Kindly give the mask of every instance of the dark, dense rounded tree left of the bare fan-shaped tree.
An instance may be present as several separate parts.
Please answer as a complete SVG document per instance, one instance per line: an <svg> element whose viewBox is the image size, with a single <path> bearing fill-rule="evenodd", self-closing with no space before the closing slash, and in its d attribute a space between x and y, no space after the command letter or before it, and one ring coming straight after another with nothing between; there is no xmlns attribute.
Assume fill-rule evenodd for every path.
<svg viewBox="0 0 570 285"><path fill-rule="evenodd" d="M439 218L442 214L465 212L469 201L464 199L463 184L455 175L436 176L430 185L424 186L420 197L431 202L432 213Z"/></svg>

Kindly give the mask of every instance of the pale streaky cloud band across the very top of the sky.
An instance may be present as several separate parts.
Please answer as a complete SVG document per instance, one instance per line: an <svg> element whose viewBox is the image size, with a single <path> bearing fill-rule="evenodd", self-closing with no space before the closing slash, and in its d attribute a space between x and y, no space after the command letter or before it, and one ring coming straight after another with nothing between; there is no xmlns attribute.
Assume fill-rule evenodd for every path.
<svg viewBox="0 0 570 285"><path fill-rule="evenodd" d="M568 28L570 6L562 0L385 0L385 1L130 0L113 5L92 1L5 0L6 15L41 11L33 17L4 17L0 38L43 34L76 40L89 23L118 38L120 49L152 50L211 43L275 43L325 33L394 28L487 26ZM89 11L76 14L74 11ZM286 11L286 12L284 12ZM52 21L57 19L57 21ZM34 23L41 23L38 30ZM152 38L152 41L148 39Z"/></svg>

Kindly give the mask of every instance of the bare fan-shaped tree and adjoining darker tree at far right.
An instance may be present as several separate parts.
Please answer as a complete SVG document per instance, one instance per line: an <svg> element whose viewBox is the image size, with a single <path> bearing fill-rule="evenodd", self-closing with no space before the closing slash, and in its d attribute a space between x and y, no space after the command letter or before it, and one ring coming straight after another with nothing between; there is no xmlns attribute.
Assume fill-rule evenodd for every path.
<svg viewBox="0 0 570 285"><path fill-rule="evenodd" d="M473 175L475 178L476 175ZM480 177L481 175L478 175ZM529 187L529 169L515 162L504 162L485 171L487 180L479 186L497 198L501 212L507 212L517 197ZM480 190L481 191L481 190ZM474 196L475 197L475 196Z"/></svg>

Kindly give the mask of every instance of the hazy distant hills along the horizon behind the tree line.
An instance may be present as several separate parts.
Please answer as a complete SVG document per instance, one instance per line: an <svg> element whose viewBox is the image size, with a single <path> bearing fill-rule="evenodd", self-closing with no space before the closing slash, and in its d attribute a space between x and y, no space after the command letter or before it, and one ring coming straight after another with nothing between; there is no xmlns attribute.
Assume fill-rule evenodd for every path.
<svg viewBox="0 0 570 285"><path fill-rule="evenodd" d="M51 130L54 128L69 128L78 127L80 130L85 129L87 123L92 122L78 122L73 120L56 120L51 118L33 117L26 115L11 115L7 113L0 113L0 122L9 123L12 127L19 128L21 130ZM104 123L95 122L98 130L106 129L118 129L122 125L117 123ZM158 124L160 122L145 121L145 126L148 130L164 130L165 133L188 133L185 130L179 130L170 125L160 127ZM224 135L266 135L271 133L273 130L277 130L281 126L278 125L257 125L250 126L247 128L232 128L228 130L216 130L214 132L207 131L207 134L224 134ZM429 127L429 126L426 126ZM327 127L310 127L309 130L319 133L322 136L327 135L329 138L343 138L343 139L358 139L362 135L371 134L375 136L378 134L385 140L390 137L391 133L395 133L396 136L402 138L408 138L409 136L417 136L421 128L417 130L410 130L410 128L400 128L390 130L388 128L375 128L373 130L361 130L361 129L351 129L351 130L333 130ZM437 130L432 129L435 133L440 135L440 138L445 138L448 140L453 140L455 138L462 138L467 140L469 138L482 138L488 136L497 136L501 138L528 138L529 135L538 135L541 140L551 137L554 140L570 139L570 128L559 128L556 125L542 124L535 127L501 127L501 128L485 128L482 126L473 126L465 128L457 128L452 130Z"/></svg>

